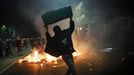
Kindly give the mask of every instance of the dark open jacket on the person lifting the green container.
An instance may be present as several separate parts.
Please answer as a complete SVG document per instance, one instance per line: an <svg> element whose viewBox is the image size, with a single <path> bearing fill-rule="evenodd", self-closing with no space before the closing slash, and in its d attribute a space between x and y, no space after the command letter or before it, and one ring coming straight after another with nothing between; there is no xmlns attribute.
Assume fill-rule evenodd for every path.
<svg viewBox="0 0 134 75"><path fill-rule="evenodd" d="M53 37L51 37L50 34L47 32L46 38L48 43L45 48L45 52L52 50L52 52L56 52L58 56L74 52L75 50L73 48L71 38L73 31L74 22L71 21L70 27L68 29L61 31L58 34L55 34Z"/></svg>

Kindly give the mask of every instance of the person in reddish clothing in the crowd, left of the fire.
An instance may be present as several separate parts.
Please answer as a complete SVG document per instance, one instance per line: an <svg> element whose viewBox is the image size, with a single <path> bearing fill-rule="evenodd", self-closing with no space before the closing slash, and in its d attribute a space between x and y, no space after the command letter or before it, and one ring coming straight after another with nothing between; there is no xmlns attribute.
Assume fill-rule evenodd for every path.
<svg viewBox="0 0 134 75"><path fill-rule="evenodd" d="M19 56L22 56L23 44L24 43L23 43L22 38L18 37L17 40L16 40L16 47L17 47Z"/></svg>

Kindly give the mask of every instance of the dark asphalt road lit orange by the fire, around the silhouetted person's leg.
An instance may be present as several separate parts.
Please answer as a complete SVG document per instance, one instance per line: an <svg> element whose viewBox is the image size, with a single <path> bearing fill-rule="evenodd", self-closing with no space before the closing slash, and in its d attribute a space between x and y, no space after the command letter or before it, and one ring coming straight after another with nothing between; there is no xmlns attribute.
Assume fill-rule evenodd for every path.
<svg viewBox="0 0 134 75"><path fill-rule="evenodd" d="M58 64L16 63L1 75L65 75L66 65L62 60ZM120 51L93 52L75 57L78 75L130 75L127 58Z"/></svg>

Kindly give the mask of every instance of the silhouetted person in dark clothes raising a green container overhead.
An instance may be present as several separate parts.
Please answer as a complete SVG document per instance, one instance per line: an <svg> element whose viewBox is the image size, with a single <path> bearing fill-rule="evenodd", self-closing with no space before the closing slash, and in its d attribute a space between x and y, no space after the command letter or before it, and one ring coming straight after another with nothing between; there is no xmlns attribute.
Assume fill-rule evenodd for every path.
<svg viewBox="0 0 134 75"><path fill-rule="evenodd" d="M71 35L74 31L74 21L70 18L70 27L66 30L61 30L59 26L55 26L53 31L55 35L50 36L48 30L46 32L47 46L45 52L53 56L62 56L64 62L68 66L66 75L77 75L74 67L74 59L72 53L75 52L73 48ZM47 29L47 28L46 28Z"/></svg>

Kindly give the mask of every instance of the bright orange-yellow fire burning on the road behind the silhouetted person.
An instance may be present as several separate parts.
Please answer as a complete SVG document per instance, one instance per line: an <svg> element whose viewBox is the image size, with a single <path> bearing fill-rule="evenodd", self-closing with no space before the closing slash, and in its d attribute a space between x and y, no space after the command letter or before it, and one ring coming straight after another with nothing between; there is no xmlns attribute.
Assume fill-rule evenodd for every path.
<svg viewBox="0 0 134 75"><path fill-rule="evenodd" d="M74 52L73 56L79 56L80 53ZM24 58L20 59L18 62L28 62L28 63L54 63L58 64L58 60L60 60L61 57L56 58L53 57L43 51L41 48L33 48L31 52Z"/></svg>

